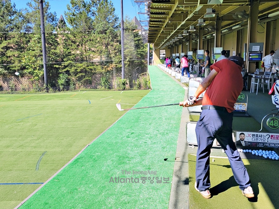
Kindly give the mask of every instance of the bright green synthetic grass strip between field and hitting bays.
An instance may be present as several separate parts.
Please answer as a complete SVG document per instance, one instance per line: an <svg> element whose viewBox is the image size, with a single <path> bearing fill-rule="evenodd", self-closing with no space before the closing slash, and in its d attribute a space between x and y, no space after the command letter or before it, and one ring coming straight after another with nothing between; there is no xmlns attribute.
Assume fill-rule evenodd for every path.
<svg viewBox="0 0 279 209"><path fill-rule="evenodd" d="M148 69L153 90L136 107L172 104L184 99L184 89L161 69L157 66ZM164 158L175 156L181 113L178 105L130 110L20 209L167 209L174 162L166 162ZM133 175L133 171L153 171L153 174ZM115 178L118 181L118 176L130 180L133 177L133 181L139 178L139 183L110 182ZM154 182L147 179L144 184L141 177L150 177ZM162 183L157 183L156 177L162 178ZM169 178L169 183L163 183L164 177Z"/></svg>

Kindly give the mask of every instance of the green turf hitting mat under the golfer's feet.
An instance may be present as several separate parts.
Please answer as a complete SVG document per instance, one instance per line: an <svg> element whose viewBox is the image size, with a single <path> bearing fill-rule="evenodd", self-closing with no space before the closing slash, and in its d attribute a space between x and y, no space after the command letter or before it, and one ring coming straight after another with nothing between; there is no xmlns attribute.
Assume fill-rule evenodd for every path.
<svg viewBox="0 0 279 209"><path fill-rule="evenodd" d="M190 209L279 208L278 161L243 159L255 194L255 198L248 199L241 194L228 159L214 160L212 162L210 158L210 192L213 197L205 199L194 188L196 156L188 155Z"/></svg>

